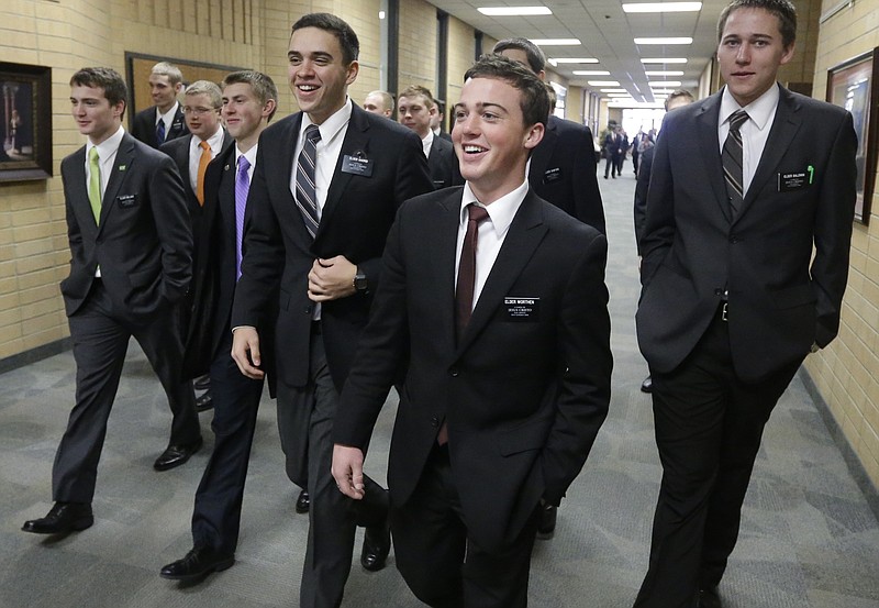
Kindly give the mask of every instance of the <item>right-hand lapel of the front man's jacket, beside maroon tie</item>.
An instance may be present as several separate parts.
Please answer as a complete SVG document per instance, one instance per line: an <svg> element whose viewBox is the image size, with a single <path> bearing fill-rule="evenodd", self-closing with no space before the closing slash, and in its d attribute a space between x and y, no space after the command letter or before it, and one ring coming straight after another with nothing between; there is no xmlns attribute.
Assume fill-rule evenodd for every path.
<svg viewBox="0 0 879 608"><path fill-rule="evenodd" d="M543 223L538 199L528 190L522 207L513 218L513 223L510 224L510 231L479 295L470 322L458 344L458 353L464 352L489 322L504 296L509 295L515 279L522 274L534 250L543 241L547 230Z"/></svg>

